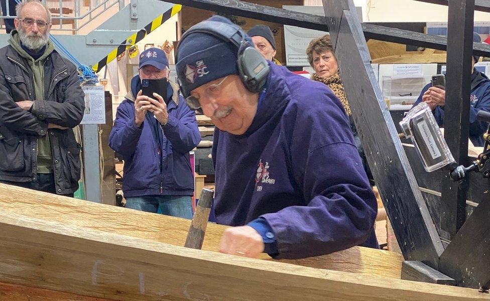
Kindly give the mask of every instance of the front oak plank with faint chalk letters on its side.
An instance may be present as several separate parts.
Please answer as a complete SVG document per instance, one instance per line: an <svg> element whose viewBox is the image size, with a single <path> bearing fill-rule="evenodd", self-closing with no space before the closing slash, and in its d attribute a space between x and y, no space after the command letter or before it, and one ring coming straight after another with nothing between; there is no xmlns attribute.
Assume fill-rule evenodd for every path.
<svg viewBox="0 0 490 301"><path fill-rule="evenodd" d="M117 300L490 300L476 289L195 250L0 211L0 279Z"/></svg>

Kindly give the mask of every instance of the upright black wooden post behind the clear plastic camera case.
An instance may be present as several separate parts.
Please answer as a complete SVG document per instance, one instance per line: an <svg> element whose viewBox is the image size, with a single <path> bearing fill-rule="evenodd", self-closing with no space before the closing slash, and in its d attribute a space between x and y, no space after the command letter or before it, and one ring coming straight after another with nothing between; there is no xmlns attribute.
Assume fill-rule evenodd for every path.
<svg viewBox="0 0 490 301"><path fill-rule="evenodd" d="M448 12L444 138L458 164L467 166L474 0L449 0ZM450 240L465 220L466 181L455 183L445 175L441 192L439 234Z"/></svg>

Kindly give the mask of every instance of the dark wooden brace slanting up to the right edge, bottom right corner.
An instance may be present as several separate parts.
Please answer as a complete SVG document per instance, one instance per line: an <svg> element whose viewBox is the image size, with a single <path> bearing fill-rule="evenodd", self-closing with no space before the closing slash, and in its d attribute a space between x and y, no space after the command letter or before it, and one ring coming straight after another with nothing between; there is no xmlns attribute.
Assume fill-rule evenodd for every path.
<svg viewBox="0 0 490 301"><path fill-rule="evenodd" d="M439 270L459 286L479 288L490 281L490 200L473 211L442 253Z"/></svg>

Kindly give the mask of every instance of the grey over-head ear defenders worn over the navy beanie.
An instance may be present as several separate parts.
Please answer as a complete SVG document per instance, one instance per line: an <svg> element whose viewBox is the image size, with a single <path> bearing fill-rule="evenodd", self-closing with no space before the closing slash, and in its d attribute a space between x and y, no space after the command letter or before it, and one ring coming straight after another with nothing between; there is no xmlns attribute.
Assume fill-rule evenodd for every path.
<svg viewBox="0 0 490 301"><path fill-rule="evenodd" d="M187 36L192 33L205 33L214 36L224 42L230 42L238 48L237 66L243 85L251 92L258 93L266 84L269 75L269 64L267 60L255 48L254 44L245 39L246 33L238 26L219 21L203 21L187 30L180 39L179 46ZM177 47L178 49L178 47ZM175 61L178 62L177 55ZM184 85L181 84L184 97L190 95Z"/></svg>

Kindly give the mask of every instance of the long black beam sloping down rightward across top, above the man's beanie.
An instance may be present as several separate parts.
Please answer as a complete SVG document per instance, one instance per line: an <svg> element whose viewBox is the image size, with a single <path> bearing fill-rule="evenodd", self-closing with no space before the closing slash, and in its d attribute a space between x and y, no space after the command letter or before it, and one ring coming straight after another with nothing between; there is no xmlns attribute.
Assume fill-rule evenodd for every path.
<svg viewBox="0 0 490 301"><path fill-rule="evenodd" d="M160 0L181 4L197 9L226 13L244 18L251 18L302 28L329 31L325 18L313 14L293 12L238 0ZM366 39L394 42L406 45L446 50L446 38L429 36L407 30L389 28L369 23L361 24ZM335 30L333 30L335 31ZM490 45L475 43L474 54L490 57Z"/></svg>

